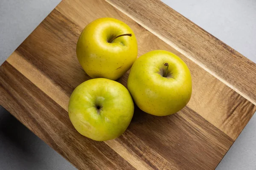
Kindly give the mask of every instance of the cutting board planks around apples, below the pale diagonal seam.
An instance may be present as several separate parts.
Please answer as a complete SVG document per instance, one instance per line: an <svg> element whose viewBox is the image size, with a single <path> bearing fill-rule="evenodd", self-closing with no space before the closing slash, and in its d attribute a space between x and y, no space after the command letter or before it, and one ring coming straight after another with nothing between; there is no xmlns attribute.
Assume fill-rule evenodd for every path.
<svg viewBox="0 0 256 170"><path fill-rule="evenodd" d="M138 56L164 49L181 57L193 80L182 111L165 117L136 108L118 139L81 136L67 114L69 96L90 79L76 58L84 26L99 17L127 23ZM118 81L126 86L129 71ZM212 72L211 72L212 73ZM63 0L0 67L0 105L79 169L214 169L256 106L104 0Z"/></svg>

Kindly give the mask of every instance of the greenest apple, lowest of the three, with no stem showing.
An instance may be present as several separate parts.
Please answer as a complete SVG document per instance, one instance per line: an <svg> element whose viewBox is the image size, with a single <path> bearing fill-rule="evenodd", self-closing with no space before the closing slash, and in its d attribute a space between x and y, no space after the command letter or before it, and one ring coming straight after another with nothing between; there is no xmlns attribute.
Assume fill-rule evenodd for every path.
<svg viewBox="0 0 256 170"><path fill-rule="evenodd" d="M134 114L129 91L110 79L90 79L75 88L70 96L68 114L83 136L106 141L120 136Z"/></svg>

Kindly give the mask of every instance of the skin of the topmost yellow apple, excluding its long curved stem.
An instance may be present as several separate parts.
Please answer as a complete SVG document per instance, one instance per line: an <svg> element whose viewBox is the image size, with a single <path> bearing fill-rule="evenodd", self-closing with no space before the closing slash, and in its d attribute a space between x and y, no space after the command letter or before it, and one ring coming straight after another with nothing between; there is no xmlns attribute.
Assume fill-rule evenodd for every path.
<svg viewBox="0 0 256 170"><path fill-rule="evenodd" d="M121 34L132 34L113 37ZM137 59L137 40L131 28L113 18L100 18L89 23L76 45L77 58L92 78L116 80L128 71Z"/></svg>

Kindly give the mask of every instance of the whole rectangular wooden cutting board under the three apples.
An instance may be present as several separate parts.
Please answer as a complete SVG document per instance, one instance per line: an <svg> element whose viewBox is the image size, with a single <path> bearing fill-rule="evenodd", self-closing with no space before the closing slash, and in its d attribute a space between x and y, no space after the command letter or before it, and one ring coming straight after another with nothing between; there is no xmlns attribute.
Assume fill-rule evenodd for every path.
<svg viewBox="0 0 256 170"><path fill-rule="evenodd" d="M90 79L76 58L82 29L100 17L127 23L138 57L163 49L193 81L178 113L135 107L118 139L96 142L71 124L70 94ZM126 86L129 71L118 82ZM0 105L79 169L214 169L256 111L256 64L158 0L63 0L0 67Z"/></svg>

